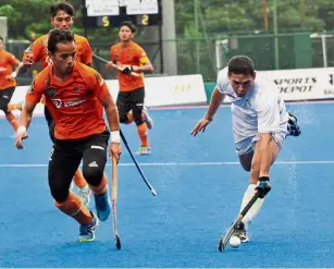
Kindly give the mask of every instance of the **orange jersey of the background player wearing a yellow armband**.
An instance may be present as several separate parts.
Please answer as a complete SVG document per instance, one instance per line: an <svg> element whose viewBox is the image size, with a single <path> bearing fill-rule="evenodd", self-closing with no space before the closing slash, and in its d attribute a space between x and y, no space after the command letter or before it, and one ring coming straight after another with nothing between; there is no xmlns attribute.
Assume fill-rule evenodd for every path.
<svg viewBox="0 0 334 269"><path fill-rule="evenodd" d="M113 45L110 48L111 61L122 65L140 66L148 61L145 50L136 42L131 41L127 47L123 47L122 42ZM136 88L144 87L143 76L133 76L117 72L120 91L131 91Z"/></svg>

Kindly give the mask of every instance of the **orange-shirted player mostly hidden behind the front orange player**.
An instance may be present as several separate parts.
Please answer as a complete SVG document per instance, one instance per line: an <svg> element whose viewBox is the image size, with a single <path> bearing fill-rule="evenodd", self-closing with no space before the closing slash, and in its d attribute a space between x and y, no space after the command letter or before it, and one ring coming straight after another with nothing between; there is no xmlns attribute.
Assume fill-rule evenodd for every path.
<svg viewBox="0 0 334 269"><path fill-rule="evenodd" d="M71 29L74 23L74 8L69 2L62 1L51 4L50 14L51 14L51 24L53 25L54 28ZM25 64L25 66L30 66L34 62L39 62L39 61L41 62L42 69L52 64L52 61L48 56L48 48L47 48L48 38L49 34L39 37L25 50L23 57L23 63ZM85 63L88 66L91 66L92 52L88 44L88 40L79 35L74 35L74 38L76 45L75 60ZM45 117L48 122L51 139L53 139L53 134L52 134L53 119L47 106L45 106ZM75 184L78 186L81 199L85 205L88 205L90 191L81 170L76 171L73 180Z"/></svg>

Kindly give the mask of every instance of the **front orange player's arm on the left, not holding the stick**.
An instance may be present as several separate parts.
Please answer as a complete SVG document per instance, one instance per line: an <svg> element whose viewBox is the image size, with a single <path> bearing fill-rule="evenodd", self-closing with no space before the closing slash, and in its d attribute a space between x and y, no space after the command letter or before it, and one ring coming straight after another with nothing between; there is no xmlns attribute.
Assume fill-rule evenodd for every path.
<svg viewBox="0 0 334 269"><path fill-rule="evenodd" d="M18 149L23 148L22 140L27 136L26 133L32 122L34 109L41 98L42 87L40 87L40 89L41 90L39 90L38 87L35 86L35 82L33 82L33 86L26 94L25 105L20 117L20 126L16 131L15 146Z"/></svg>

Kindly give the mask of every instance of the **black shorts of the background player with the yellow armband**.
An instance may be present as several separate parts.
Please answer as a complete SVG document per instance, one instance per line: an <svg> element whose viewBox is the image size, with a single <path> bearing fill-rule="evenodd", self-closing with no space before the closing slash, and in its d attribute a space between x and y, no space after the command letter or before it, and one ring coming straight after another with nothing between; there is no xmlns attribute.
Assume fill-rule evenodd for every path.
<svg viewBox="0 0 334 269"><path fill-rule="evenodd" d="M136 124L141 125L144 123L141 117L141 111L144 108L144 99L145 99L144 87L131 91L120 91L116 100L120 122L128 123L127 113L129 110L132 110Z"/></svg>

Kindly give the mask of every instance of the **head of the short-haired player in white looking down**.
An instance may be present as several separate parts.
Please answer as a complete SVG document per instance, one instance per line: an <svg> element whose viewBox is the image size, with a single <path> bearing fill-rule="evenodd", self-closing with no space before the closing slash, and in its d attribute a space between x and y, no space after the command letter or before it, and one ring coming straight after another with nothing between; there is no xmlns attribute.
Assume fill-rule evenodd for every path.
<svg viewBox="0 0 334 269"><path fill-rule="evenodd" d="M256 72L252 61L246 56L233 57L228 62L228 80L238 97L244 97L253 85Z"/></svg>

